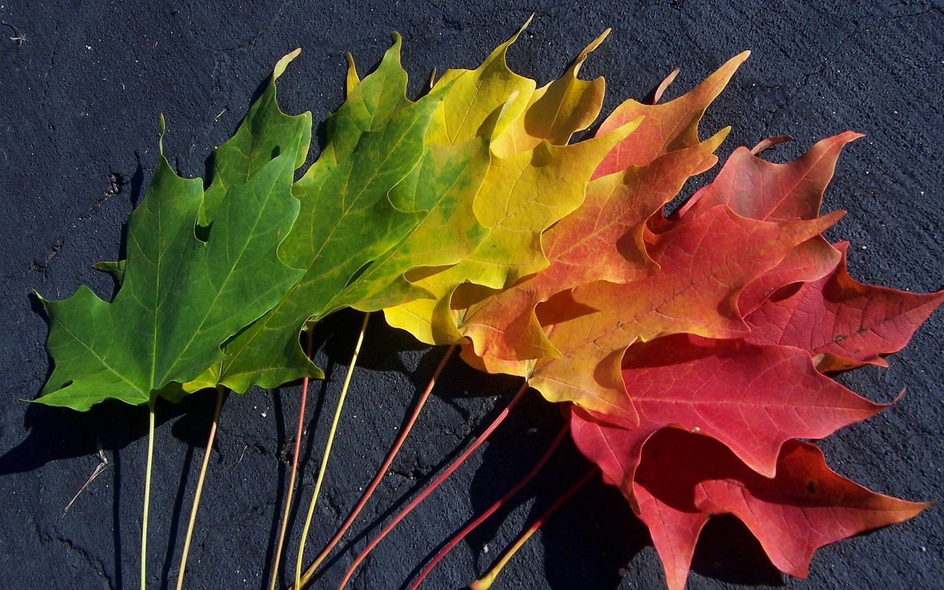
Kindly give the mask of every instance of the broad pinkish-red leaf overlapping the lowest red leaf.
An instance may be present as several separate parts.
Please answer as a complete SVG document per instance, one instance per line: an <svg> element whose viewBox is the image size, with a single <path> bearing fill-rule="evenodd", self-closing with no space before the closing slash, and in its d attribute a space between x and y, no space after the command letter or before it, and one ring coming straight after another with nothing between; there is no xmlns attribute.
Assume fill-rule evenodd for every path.
<svg viewBox="0 0 944 590"><path fill-rule="evenodd" d="M630 480L646 441L666 426L711 436L772 478L786 441L823 438L886 407L822 375L798 348L744 340L676 334L632 346L622 377L624 403L639 416L625 435Z"/></svg>

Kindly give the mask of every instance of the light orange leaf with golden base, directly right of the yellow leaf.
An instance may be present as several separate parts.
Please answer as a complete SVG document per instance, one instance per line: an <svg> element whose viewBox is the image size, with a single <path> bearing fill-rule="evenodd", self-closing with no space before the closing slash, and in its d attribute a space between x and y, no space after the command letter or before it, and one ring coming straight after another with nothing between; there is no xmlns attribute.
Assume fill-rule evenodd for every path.
<svg viewBox="0 0 944 590"><path fill-rule="evenodd" d="M728 129L711 139L660 155L649 164L599 177L587 186L577 211L545 232L550 265L513 287L464 305L456 315L476 356L507 361L559 356L538 322L534 308L552 295L584 283L628 283L656 272L643 243L643 228L682 189L689 177L716 162L714 151Z"/></svg>

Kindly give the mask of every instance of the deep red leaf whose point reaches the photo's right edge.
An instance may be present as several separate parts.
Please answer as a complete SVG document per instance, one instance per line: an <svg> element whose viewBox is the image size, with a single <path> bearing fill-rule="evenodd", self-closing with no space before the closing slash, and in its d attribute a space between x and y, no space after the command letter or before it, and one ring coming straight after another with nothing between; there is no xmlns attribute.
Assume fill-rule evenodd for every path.
<svg viewBox="0 0 944 590"><path fill-rule="evenodd" d="M887 366L880 355L908 344L944 302L944 290L916 294L860 283L846 268L849 243L835 248L841 258L829 275L750 313L747 340L802 348L815 356L824 372L863 364Z"/></svg>

